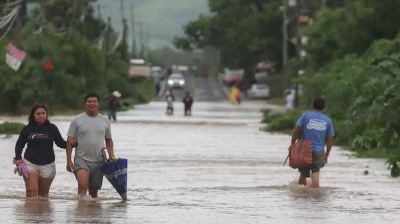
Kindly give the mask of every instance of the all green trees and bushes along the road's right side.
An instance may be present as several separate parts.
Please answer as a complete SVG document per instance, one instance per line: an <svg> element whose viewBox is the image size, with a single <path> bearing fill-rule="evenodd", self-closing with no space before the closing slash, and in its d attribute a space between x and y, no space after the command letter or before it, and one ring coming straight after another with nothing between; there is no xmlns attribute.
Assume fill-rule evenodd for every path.
<svg viewBox="0 0 400 224"><path fill-rule="evenodd" d="M298 7L287 11L287 64L282 63L280 0L209 0L211 14L188 23L185 36L175 38L175 45L182 49L216 46L223 65L245 68L250 79L252 65L268 58L285 75L286 86L301 86L302 94L294 111L279 115L266 111L265 130L290 132L300 113L310 109L312 98L323 96L326 113L334 122L335 144L360 156L386 158L391 174L397 176L400 2L296 2ZM297 23L296 10L311 19ZM300 41L302 37L307 41ZM307 54L299 57L300 50Z"/></svg>

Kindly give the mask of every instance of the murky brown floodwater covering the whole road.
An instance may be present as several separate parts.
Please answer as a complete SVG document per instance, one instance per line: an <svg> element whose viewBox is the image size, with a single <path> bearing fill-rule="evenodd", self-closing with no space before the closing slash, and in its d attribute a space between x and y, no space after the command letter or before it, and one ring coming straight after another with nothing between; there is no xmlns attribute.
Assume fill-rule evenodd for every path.
<svg viewBox="0 0 400 224"><path fill-rule="evenodd" d="M259 131L264 103L197 103L193 116L153 102L119 113L116 153L128 158L128 198L104 179L100 197L78 200L56 149L49 199L25 199L11 159L17 136L1 139L1 223L400 223L400 179L383 160L334 148L319 189L283 167L290 137ZM247 115L246 115L247 114ZM65 136L67 117L54 117ZM364 173L368 172L368 175Z"/></svg>

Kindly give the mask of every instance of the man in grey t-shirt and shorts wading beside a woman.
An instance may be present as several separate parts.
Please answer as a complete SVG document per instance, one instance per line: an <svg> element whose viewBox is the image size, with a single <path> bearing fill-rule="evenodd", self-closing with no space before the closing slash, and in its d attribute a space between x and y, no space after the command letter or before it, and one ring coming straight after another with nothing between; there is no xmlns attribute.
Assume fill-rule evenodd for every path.
<svg viewBox="0 0 400 224"><path fill-rule="evenodd" d="M86 196L87 192L96 198L103 183L100 171L104 164L101 150L106 147L111 160L115 160L114 143L111 136L110 121L99 113L99 96L89 93L85 96L85 112L74 117L68 129L67 166L78 182L78 195ZM77 142L74 162L72 146Z"/></svg>

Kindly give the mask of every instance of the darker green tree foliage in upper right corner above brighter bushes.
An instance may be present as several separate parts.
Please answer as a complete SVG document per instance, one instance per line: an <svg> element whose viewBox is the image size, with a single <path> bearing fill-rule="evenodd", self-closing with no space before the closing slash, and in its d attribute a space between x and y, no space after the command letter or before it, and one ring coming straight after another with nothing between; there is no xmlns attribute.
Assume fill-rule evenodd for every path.
<svg viewBox="0 0 400 224"><path fill-rule="evenodd" d="M364 54L375 40L394 38L400 28L395 22L399 13L400 2L374 0L349 1L346 7L319 11L316 22L303 30L310 38L309 64L320 68L346 54Z"/></svg>

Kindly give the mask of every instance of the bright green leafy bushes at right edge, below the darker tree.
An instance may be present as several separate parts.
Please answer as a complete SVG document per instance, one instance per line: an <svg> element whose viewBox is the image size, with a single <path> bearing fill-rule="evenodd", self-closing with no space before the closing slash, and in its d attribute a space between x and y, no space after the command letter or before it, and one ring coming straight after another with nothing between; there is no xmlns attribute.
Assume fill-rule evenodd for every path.
<svg viewBox="0 0 400 224"><path fill-rule="evenodd" d="M365 154L395 154L400 136L400 38L378 40L299 80L305 97L322 95L339 127L335 142ZM385 153L384 153L385 152ZM400 159L394 156L393 158ZM396 169L394 161L389 163Z"/></svg>

